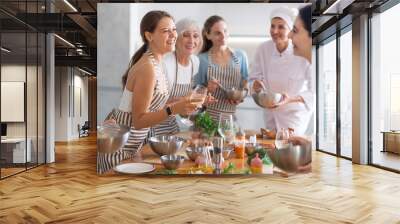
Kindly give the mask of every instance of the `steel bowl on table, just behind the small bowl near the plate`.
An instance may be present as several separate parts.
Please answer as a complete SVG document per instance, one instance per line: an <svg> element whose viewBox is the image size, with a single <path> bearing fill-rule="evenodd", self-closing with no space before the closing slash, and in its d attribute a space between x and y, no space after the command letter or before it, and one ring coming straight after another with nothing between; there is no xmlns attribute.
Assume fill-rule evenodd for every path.
<svg viewBox="0 0 400 224"><path fill-rule="evenodd" d="M176 136L155 136L149 138L151 149L159 156L175 154L185 140Z"/></svg>

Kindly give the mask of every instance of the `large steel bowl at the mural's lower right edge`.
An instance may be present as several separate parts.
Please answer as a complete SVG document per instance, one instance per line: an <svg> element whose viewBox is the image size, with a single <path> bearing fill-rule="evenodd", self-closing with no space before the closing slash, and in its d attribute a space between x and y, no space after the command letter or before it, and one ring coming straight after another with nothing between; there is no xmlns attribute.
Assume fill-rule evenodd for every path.
<svg viewBox="0 0 400 224"><path fill-rule="evenodd" d="M296 172L311 163L311 143L303 145L289 144L286 148L267 149L272 163L286 172Z"/></svg>

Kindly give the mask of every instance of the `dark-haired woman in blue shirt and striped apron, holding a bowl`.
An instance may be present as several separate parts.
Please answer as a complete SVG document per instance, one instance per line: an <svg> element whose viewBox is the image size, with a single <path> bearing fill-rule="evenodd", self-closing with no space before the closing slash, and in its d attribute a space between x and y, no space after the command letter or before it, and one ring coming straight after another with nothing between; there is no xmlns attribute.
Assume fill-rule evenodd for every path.
<svg viewBox="0 0 400 224"><path fill-rule="evenodd" d="M228 30L225 20L217 15L209 17L203 27L203 49L199 54L199 73L196 84L208 87L218 101L207 107L214 120L220 114L234 114L240 102L228 100L221 88L247 88L248 62L244 51L228 46Z"/></svg>

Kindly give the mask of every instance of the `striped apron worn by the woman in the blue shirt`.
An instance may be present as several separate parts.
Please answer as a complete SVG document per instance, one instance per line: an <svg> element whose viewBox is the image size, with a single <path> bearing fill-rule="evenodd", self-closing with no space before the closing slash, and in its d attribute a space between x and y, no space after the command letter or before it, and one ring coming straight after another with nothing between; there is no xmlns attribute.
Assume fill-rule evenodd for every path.
<svg viewBox="0 0 400 224"><path fill-rule="evenodd" d="M210 51L208 52L208 64L207 68L207 80L217 79L221 85L226 88L240 88L242 84L242 75L240 74L240 63L239 59L232 52L232 59L234 61L234 65L229 63L226 66L219 66L212 63L212 58ZM207 106L207 112L214 119L214 121L218 122L219 115L221 113L225 115L234 114L236 111L236 105L228 102L224 92L221 88L217 88L214 93L211 95L218 100L217 103L213 103Z"/></svg>

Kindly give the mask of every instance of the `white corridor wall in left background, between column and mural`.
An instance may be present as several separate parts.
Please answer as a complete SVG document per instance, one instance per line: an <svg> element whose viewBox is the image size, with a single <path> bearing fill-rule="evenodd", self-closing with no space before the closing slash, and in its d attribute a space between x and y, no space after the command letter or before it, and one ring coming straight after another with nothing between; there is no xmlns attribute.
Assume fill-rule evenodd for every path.
<svg viewBox="0 0 400 224"><path fill-rule="evenodd" d="M69 141L88 120L88 78L71 67L56 67L55 73L55 141Z"/></svg>

